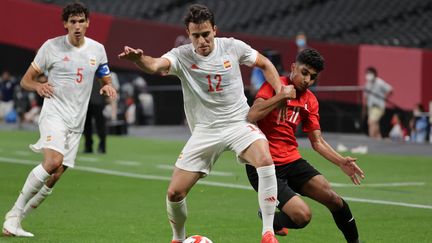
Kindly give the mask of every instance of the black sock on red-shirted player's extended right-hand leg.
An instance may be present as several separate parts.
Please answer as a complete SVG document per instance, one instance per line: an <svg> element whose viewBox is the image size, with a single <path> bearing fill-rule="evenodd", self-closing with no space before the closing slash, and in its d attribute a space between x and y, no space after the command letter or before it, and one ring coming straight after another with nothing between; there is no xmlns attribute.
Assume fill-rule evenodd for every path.
<svg viewBox="0 0 432 243"><path fill-rule="evenodd" d="M357 242L358 231L355 219L351 214L348 204L342 199L343 206L336 212L332 212L338 228L342 231L347 242Z"/></svg>

